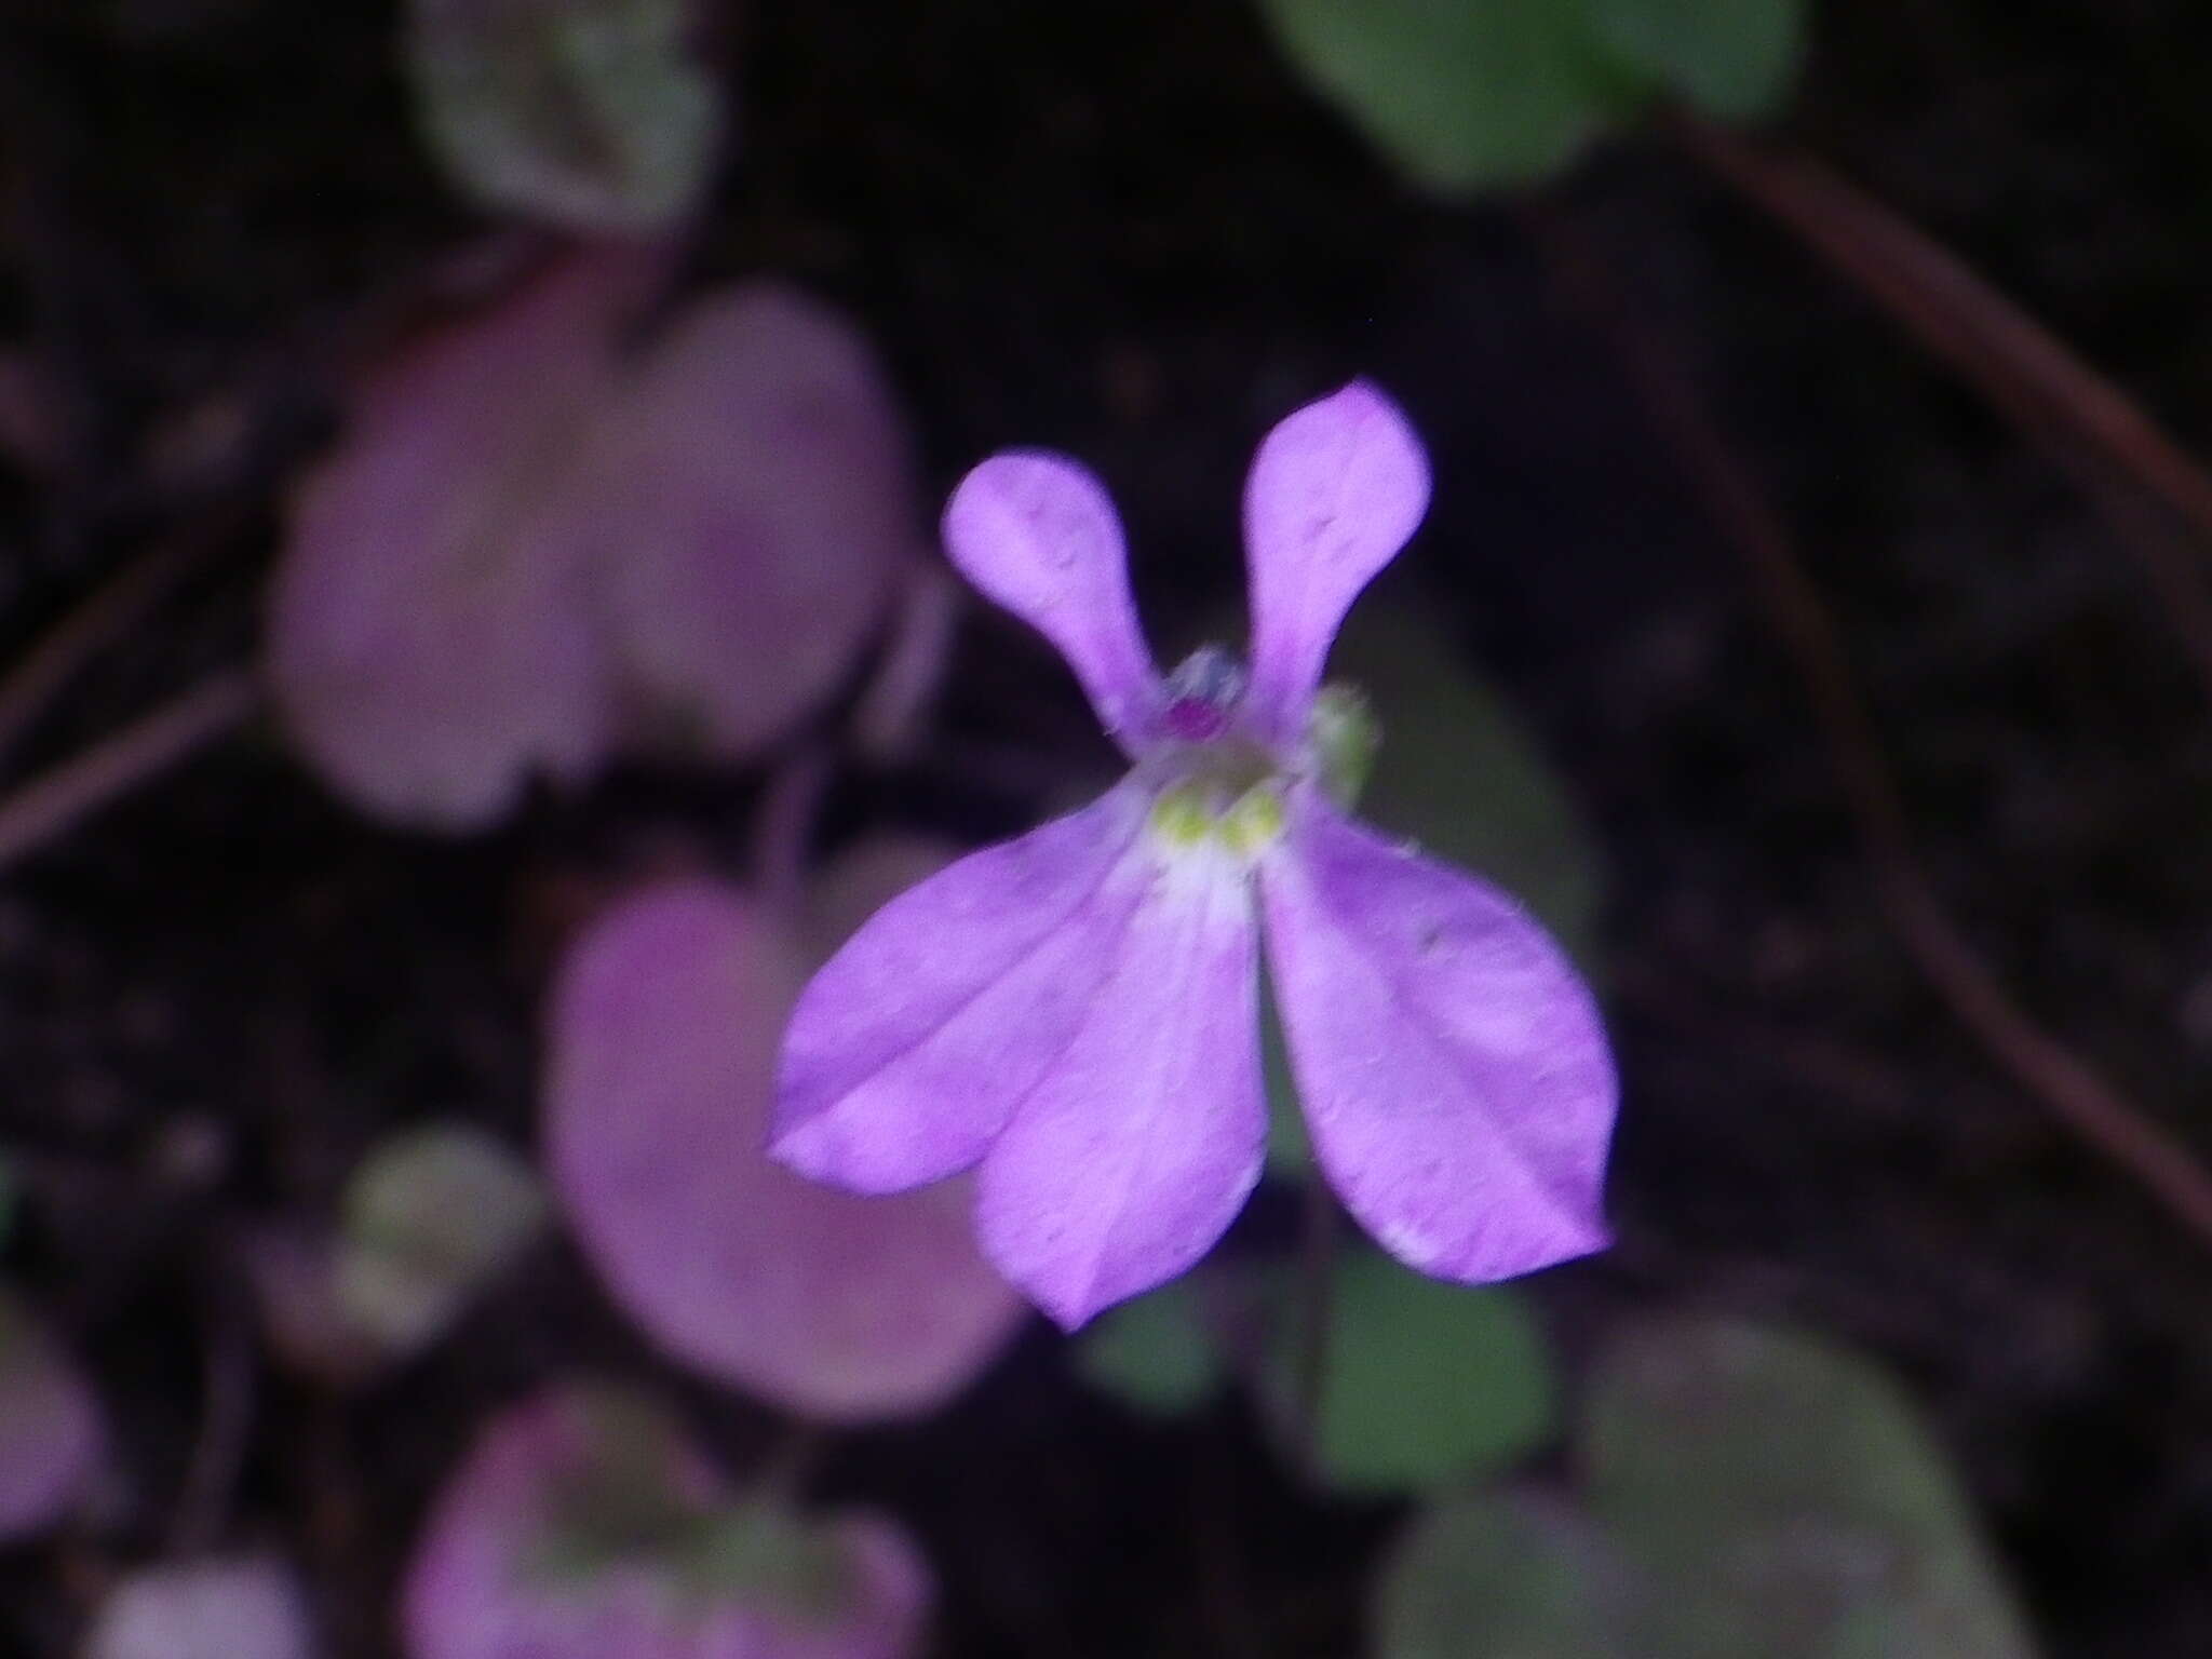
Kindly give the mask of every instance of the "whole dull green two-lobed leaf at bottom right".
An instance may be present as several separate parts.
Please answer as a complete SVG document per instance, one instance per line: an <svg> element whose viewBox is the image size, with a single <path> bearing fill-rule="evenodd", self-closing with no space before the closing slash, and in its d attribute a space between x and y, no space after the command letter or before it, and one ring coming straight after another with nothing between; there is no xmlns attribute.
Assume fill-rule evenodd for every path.
<svg viewBox="0 0 2212 1659"><path fill-rule="evenodd" d="M1398 1542L1380 1659L2028 1659L1898 1387L1814 1336L1672 1321L1590 1383L1584 1506L1473 1493Z"/></svg>

